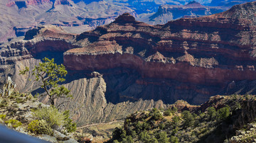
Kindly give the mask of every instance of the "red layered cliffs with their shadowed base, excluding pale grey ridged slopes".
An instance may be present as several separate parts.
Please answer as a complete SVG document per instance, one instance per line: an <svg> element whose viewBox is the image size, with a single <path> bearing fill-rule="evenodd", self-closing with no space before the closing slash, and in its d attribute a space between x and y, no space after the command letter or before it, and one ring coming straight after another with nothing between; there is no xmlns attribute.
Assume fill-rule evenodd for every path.
<svg viewBox="0 0 256 143"><path fill-rule="evenodd" d="M121 74L125 78L132 76L125 85L122 78L114 83L122 86L107 87L111 88L108 96L119 98L110 102L144 98L166 103L178 99L203 103L220 92L243 90L247 83L241 80L256 79L255 23L254 14L250 13L255 10L255 3L237 7L247 14L231 8L225 13L183 18L165 25L148 25L125 13L110 25L80 35L64 33L56 27L29 30L28 41L23 44L26 48L14 46L6 52L2 48L1 63L9 64L14 59L9 56L18 57L20 52L25 58L29 54L66 51L63 64L75 73L111 69L102 70L106 72L103 77L109 78L107 85L114 83L109 83L112 79L123 77ZM116 74L119 76L112 77ZM225 90L225 86L230 90Z"/></svg>

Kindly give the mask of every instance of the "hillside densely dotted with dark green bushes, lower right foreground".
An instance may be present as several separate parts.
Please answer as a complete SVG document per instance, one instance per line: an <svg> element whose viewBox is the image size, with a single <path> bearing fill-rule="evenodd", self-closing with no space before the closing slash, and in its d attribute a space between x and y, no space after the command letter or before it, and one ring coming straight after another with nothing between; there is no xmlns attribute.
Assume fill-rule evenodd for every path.
<svg viewBox="0 0 256 143"><path fill-rule="evenodd" d="M201 110L191 108L181 112L176 107L162 111L153 108L129 115L124 127L114 130L111 142L127 142L127 137L132 137L134 142L209 142L212 139L224 142L233 135L230 132L233 129L230 124L235 122L232 117L237 119L239 110L244 108L245 104L240 101L255 100L253 96L215 98L210 99L208 108Z"/></svg>

